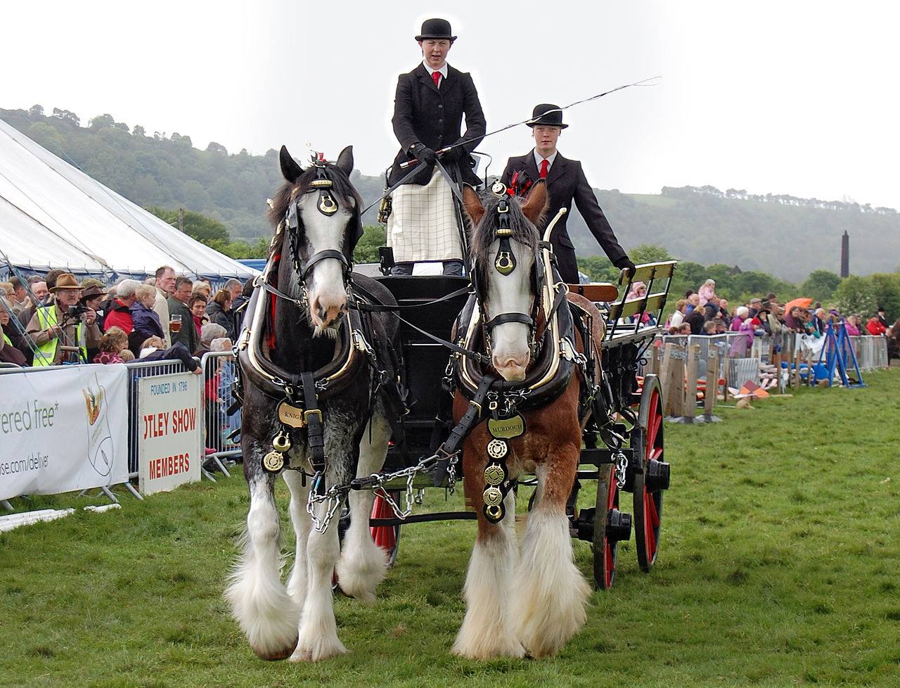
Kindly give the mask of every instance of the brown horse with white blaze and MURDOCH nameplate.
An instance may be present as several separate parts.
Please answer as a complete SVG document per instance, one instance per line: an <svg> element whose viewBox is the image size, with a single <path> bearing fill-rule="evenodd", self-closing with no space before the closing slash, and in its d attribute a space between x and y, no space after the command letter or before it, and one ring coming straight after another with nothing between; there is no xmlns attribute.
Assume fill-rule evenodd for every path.
<svg viewBox="0 0 900 688"><path fill-rule="evenodd" d="M482 197L469 187L464 189L464 207L474 227L470 241L472 279L480 302L467 308L481 312L473 313L470 319L464 311L457 328L465 329L468 323L473 334L466 339L464 332L457 330L455 338L467 341L467 346L481 346L491 361L482 365L482 372L497 376L497 386L509 393L507 398L519 394L522 403L511 418L516 422L518 415L524 418L521 427L512 432L502 429L502 423L491 430L490 419L481 422L463 445L465 494L476 511L478 533L464 585L465 617L454 652L477 659L554 655L581 629L590 595L589 584L574 564L565 511L579 465L581 431L587 421L580 417L587 368L575 351L563 350L563 354L568 353L566 360L559 352L567 346L579 355L586 351L585 338L572 325L575 316L569 311L569 302L579 302L586 311L592 309L588 311L593 316L591 348L599 347L602 340L602 319L592 303L577 294L566 295L558 274L541 258L550 255L549 244L540 241L536 229L546 205L544 183L532 187L524 204L518 198L509 198L505 189L495 188ZM571 318L567 330L562 324L565 318ZM560 368L562 377L546 381L547 386L557 385L547 403L523 410L533 378L549 375L541 373L545 370L541 361L549 359L549 366L554 357L557 364L568 366L568 375L562 375ZM575 371L579 360L581 374ZM595 366L591 374L599 375L599 356L588 362ZM464 375L468 370L473 380L470 394L462 394L457 386L456 421L473 403L471 391L478 375L477 366L468 359L457 364L458 374L461 369ZM540 387L532 392L538 396ZM497 399L502 403L504 394ZM488 408L484 411L487 414ZM489 497L491 485L500 480L497 464L491 466L491 457L498 455L508 472L508 480L500 484L501 493L505 490L502 506L496 505L499 493ZM512 487L523 473L535 474L538 484L519 548Z"/></svg>

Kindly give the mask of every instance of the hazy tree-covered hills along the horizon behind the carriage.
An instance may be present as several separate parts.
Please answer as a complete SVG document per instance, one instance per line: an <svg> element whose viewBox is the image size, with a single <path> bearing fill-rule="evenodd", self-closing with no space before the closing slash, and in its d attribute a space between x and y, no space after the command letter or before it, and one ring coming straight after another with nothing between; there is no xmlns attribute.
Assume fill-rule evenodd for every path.
<svg viewBox="0 0 900 688"><path fill-rule="evenodd" d="M4 119L60 158L143 206L203 213L228 227L232 238L269 233L266 198L281 184L275 149L262 156L229 153L212 142L193 148L189 136L148 134L109 114L85 122L66 110L2 110ZM380 177L354 173L366 203L383 187ZM598 191L626 249L664 246L682 260L770 273L792 282L840 267L841 236L851 236L851 272L869 275L900 266L900 216L890 208L824 202L787 195L748 195L712 186L663 187L661 195ZM374 211L365 217L374 224ZM578 213L569 222L579 254L599 252ZM251 241L251 243L256 243Z"/></svg>

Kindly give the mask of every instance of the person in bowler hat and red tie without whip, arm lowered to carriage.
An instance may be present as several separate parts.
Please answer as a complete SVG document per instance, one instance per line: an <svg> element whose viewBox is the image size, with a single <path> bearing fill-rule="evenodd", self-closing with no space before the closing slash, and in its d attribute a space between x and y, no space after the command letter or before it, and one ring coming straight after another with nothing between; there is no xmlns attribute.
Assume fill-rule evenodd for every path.
<svg viewBox="0 0 900 688"><path fill-rule="evenodd" d="M597 239L612 264L619 269L623 267L634 269L635 264L629 260L625 250L619 246L616 234L609 226L606 215L603 214L597 203L597 196L590 188L588 178L584 176L581 162L563 158L556 149L560 133L569 126L563 123L563 112L559 105L551 103L536 105L532 112L531 122L527 122L527 124L531 127L532 135L535 138L535 148L527 155L509 158L500 181L507 186L515 186L518 194L525 195L528 187L538 179L545 180L547 192L550 195L550 206L545 213L542 226L538 227L542 233L560 208L565 207L569 210L569 213L563 215L556 223L554 233L550 238L554 245L560 276L570 284L578 283L575 246L565 227L566 220L572 213L572 201L575 202L590 233Z"/></svg>

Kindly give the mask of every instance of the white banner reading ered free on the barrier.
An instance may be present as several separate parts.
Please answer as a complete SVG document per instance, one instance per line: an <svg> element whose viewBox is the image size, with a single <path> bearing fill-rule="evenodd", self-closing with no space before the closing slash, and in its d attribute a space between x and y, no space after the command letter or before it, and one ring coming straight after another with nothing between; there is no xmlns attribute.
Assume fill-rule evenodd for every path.
<svg viewBox="0 0 900 688"><path fill-rule="evenodd" d="M128 480L128 371L121 365L0 375L0 499Z"/></svg>

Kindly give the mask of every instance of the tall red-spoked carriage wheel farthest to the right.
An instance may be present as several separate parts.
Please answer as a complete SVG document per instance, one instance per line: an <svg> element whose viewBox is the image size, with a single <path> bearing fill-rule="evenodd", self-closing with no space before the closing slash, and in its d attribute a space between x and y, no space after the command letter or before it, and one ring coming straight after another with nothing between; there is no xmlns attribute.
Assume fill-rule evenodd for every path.
<svg viewBox="0 0 900 688"><path fill-rule="evenodd" d="M634 475L637 563L644 571L650 571L660 548L662 491L669 488L669 464L663 459L662 386L656 376L644 379L631 448L634 465L629 472Z"/></svg>

